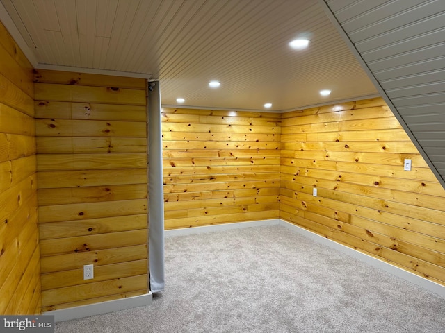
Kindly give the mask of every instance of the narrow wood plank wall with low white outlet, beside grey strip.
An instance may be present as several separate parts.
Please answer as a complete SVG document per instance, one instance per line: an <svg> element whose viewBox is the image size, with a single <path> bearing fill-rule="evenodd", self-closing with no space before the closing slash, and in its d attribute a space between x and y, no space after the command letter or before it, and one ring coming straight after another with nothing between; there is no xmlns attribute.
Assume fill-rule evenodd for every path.
<svg viewBox="0 0 445 333"><path fill-rule="evenodd" d="M143 79L36 71L43 311L148 291L145 96Z"/></svg>

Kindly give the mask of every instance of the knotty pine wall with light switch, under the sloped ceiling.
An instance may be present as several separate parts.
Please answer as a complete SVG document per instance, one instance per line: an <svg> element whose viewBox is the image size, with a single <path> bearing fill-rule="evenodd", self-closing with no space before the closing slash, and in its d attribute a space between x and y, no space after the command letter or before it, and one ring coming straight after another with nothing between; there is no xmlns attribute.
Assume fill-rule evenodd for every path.
<svg viewBox="0 0 445 333"><path fill-rule="evenodd" d="M382 99L284 113L281 152L282 219L445 284L445 191Z"/></svg>

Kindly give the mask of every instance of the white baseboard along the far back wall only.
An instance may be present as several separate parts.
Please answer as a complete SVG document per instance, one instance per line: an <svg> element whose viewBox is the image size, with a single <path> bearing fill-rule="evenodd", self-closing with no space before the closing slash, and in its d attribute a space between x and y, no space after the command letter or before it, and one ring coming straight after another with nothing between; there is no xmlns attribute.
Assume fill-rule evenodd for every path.
<svg viewBox="0 0 445 333"><path fill-rule="evenodd" d="M282 223L281 221L282 221L281 219L270 219L270 220L259 220L259 221L203 225L202 227L193 227L193 228L170 229L170 230L165 230L164 236L177 237L177 236L186 236L189 234L204 234L206 232L261 227L264 225L280 225L280 223Z"/></svg>

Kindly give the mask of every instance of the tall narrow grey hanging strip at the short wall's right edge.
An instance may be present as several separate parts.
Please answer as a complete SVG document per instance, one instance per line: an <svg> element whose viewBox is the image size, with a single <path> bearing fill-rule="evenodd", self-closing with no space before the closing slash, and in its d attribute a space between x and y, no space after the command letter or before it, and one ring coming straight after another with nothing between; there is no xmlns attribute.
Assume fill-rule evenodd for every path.
<svg viewBox="0 0 445 333"><path fill-rule="evenodd" d="M165 286L164 198L162 173L161 90L148 83L149 275L152 293Z"/></svg>

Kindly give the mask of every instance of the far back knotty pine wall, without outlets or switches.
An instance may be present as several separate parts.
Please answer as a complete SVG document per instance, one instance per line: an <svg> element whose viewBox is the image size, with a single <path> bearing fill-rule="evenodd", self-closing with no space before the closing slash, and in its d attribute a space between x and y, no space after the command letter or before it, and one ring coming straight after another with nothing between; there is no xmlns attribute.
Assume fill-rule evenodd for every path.
<svg viewBox="0 0 445 333"><path fill-rule="evenodd" d="M165 228L278 218L280 118L163 108Z"/></svg>

